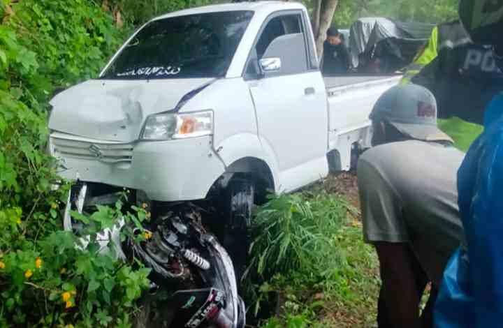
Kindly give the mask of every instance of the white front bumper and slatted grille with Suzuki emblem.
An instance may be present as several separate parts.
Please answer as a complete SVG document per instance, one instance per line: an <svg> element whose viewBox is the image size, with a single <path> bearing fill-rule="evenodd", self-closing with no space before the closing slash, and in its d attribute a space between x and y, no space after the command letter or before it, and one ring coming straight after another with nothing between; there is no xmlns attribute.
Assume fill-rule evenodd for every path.
<svg viewBox="0 0 503 328"><path fill-rule="evenodd" d="M225 171L212 136L119 143L53 132L50 152L65 179L133 188L161 202L201 200Z"/></svg>

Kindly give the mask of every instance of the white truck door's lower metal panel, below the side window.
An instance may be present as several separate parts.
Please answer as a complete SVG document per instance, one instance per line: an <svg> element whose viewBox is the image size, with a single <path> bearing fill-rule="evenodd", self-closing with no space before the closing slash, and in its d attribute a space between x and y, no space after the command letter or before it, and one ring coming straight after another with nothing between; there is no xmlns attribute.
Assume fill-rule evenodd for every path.
<svg viewBox="0 0 503 328"><path fill-rule="evenodd" d="M249 82L258 135L277 158L279 191L292 191L328 174L326 92L319 72ZM305 95L313 88L314 94ZM271 90L285 90L282 96Z"/></svg>

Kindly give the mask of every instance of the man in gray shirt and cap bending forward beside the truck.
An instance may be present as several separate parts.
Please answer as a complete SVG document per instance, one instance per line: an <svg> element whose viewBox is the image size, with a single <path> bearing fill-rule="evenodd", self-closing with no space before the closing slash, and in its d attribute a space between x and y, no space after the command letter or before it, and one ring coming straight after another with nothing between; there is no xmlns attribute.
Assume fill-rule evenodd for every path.
<svg viewBox="0 0 503 328"><path fill-rule="evenodd" d="M464 154L437 128L435 97L423 87L386 91L370 119L377 147L358 161L358 187L363 235L380 262L379 328L428 327L421 295L428 281L438 288L462 239L456 174Z"/></svg>

